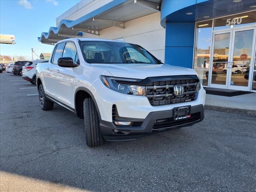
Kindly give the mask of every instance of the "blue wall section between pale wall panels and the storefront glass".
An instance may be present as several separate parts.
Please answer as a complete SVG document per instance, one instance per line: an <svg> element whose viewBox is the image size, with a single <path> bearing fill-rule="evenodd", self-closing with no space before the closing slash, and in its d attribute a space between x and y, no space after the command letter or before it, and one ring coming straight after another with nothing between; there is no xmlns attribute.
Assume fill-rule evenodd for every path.
<svg viewBox="0 0 256 192"><path fill-rule="evenodd" d="M194 31L194 22L166 22L166 64L192 68Z"/></svg>

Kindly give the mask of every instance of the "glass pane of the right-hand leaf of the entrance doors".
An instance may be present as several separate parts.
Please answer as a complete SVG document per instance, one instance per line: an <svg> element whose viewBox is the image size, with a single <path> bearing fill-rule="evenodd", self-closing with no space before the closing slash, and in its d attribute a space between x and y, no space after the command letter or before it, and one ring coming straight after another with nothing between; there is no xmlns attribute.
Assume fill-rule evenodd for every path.
<svg viewBox="0 0 256 192"><path fill-rule="evenodd" d="M230 85L248 86L250 62L252 57L252 40L254 30L238 31L235 33L234 54Z"/></svg>

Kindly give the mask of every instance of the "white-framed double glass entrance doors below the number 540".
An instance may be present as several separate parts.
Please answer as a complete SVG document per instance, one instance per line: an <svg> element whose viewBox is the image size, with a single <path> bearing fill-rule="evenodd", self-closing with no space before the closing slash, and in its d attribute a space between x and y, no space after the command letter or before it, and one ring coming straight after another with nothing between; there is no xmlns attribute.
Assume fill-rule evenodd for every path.
<svg viewBox="0 0 256 192"><path fill-rule="evenodd" d="M210 87L249 91L256 28L214 33Z"/></svg>

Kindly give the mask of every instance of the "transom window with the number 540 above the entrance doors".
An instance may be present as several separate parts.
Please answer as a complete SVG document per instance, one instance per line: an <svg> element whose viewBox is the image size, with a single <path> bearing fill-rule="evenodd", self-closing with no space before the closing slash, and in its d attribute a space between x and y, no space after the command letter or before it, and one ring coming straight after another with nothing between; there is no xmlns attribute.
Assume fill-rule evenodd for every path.
<svg viewBox="0 0 256 192"><path fill-rule="evenodd" d="M235 28L252 24L256 24L256 11L215 19L214 30Z"/></svg>

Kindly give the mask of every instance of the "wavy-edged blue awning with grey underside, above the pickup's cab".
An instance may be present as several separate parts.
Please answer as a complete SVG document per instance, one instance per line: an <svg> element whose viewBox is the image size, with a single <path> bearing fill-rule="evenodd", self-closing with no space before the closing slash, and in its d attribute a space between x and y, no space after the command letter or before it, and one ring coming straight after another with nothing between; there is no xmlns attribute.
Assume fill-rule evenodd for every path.
<svg viewBox="0 0 256 192"><path fill-rule="evenodd" d="M82 36L82 32L100 35L100 30L111 26L124 28L124 22L158 12L152 6L160 5L160 1L113 0L77 20L61 20L58 27L51 27L48 32L43 32L38 41L54 44L59 40Z"/></svg>

